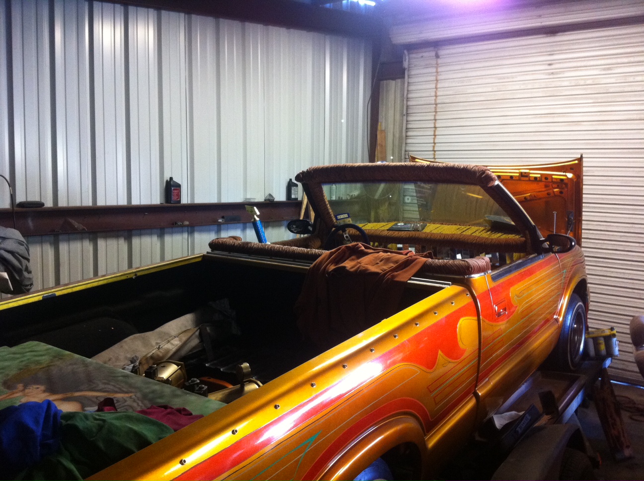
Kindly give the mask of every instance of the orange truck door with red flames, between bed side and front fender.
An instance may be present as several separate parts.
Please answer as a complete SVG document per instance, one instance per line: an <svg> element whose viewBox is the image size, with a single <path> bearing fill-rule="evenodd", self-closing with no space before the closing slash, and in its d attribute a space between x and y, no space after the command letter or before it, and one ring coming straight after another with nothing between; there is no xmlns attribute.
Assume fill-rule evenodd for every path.
<svg viewBox="0 0 644 481"><path fill-rule="evenodd" d="M558 336L556 313L563 293L554 254L531 256L486 275L481 310L480 415L506 401L541 364ZM488 300L489 299L489 300Z"/></svg>

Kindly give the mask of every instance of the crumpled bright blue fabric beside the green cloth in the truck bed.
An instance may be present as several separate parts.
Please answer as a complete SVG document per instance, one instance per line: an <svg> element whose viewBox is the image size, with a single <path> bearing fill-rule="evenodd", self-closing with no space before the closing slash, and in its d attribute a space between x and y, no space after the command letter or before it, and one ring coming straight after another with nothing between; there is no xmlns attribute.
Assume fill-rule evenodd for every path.
<svg viewBox="0 0 644 481"><path fill-rule="evenodd" d="M14 475L60 446L61 410L49 399L0 410L0 466Z"/></svg>

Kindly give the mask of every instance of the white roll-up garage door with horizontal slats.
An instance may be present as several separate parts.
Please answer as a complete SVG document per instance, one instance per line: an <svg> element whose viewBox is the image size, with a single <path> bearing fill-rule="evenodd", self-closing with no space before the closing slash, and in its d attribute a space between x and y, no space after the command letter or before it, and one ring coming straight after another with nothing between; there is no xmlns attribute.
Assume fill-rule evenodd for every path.
<svg viewBox="0 0 644 481"><path fill-rule="evenodd" d="M566 9L581 4L585 14L598 5L599 17L606 7L559 8L571 20ZM641 5L618 4L622 15L641 14ZM431 26L425 31L435 32ZM436 85L439 160L533 163L583 153L589 321L618 329L612 372L636 382L643 380L628 326L644 313L642 39L644 25L634 24L439 46L438 60L433 48L410 51L406 101L406 150L414 155L432 156Z"/></svg>

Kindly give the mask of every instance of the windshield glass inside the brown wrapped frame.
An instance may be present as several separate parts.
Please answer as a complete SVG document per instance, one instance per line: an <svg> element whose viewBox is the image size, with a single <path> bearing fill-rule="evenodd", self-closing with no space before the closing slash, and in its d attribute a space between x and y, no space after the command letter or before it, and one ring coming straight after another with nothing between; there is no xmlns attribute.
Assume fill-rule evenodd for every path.
<svg viewBox="0 0 644 481"><path fill-rule="evenodd" d="M424 230L423 223L515 229L478 185L361 182L323 184L323 189L339 223L393 222L403 224L401 230L413 231Z"/></svg>

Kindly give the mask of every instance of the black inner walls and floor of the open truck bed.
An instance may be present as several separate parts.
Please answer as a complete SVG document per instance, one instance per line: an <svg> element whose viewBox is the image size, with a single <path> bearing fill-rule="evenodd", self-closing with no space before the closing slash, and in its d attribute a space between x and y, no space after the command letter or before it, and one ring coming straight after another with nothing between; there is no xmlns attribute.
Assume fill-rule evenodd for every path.
<svg viewBox="0 0 644 481"><path fill-rule="evenodd" d="M93 357L128 335L225 300L234 312L235 333L215 329L209 359L201 351L185 360L188 375L234 384L235 366L245 362L265 383L323 351L307 342L296 325L293 307L307 268L307 263L206 254L198 261L44 296L6 310L2 341L8 346L39 341ZM436 290L440 288L410 283L401 308Z"/></svg>

